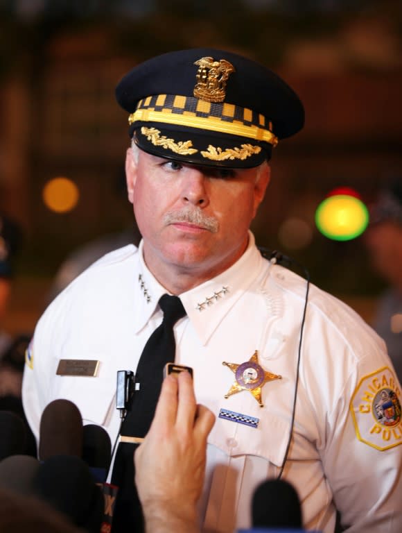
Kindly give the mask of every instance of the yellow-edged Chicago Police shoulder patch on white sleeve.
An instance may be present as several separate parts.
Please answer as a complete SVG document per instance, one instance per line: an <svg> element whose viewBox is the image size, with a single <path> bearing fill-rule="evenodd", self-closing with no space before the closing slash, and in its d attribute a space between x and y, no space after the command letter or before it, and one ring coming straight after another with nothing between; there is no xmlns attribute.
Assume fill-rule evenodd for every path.
<svg viewBox="0 0 402 533"><path fill-rule="evenodd" d="M399 383L387 366L358 382L350 410L360 441L381 451L402 444L400 396Z"/></svg>

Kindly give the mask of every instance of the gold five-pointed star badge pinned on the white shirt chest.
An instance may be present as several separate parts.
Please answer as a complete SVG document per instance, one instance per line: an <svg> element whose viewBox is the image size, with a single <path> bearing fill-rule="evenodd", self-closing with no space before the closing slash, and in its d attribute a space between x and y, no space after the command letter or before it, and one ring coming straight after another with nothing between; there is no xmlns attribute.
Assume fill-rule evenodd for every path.
<svg viewBox="0 0 402 533"><path fill-rule="evenodd" d="M259 406L264 407L261 400L261 389L268 381L280 380L282 376L265 371L263 367L259 365L257 355L258 350L255 350L252 357L241 364L227 363L225 361L222 362L222 364L231 369L236 378L236 381L230 387L229 392L225 394L225 398L229 398L229 396L236 394L236 392L250 391L259 403Z"/></svg>

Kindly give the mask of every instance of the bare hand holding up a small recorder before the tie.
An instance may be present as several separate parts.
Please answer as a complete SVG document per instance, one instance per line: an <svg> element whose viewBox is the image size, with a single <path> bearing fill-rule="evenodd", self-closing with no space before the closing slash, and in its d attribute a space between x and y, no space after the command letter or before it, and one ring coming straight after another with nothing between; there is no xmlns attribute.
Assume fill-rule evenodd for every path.
<svg viewBox="0 0 402 533"><path fill-rule="evenodd" d="M165 378L150 430L134 455L147 532L197 531L195 506L214 421L197 405L189 373Z"/></svg>

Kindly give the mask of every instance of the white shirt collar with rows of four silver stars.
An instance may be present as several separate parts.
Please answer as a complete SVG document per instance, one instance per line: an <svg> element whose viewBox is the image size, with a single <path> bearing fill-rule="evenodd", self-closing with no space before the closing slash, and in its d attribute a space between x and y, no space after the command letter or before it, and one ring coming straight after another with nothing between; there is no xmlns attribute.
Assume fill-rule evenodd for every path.
<svg viewBox="0 0 402 533"><path fill-rule="evenodd" d="M202 344L225 318L231 307L241 298L264 271L266 261L255 246L252 232L245 253L229 269L215 278L180 294L186 314ZM143 242L139 244L139 274L135 306L136 332L139 332L154 314L159 298L166 289L152 276L143 260Z"/></svg>

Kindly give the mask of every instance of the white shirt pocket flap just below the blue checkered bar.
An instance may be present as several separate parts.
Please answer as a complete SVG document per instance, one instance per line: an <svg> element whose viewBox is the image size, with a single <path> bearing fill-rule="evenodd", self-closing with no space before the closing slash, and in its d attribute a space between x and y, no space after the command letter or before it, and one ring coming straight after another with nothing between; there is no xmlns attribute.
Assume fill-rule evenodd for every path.
<svg viewBox="0 0 402 533"><path fill-rule="evenodd" d="M290 437L290 421L264 412L256 428L237 421L217 418L209 444L227 455L256 455L281 466Z"/></svg>

